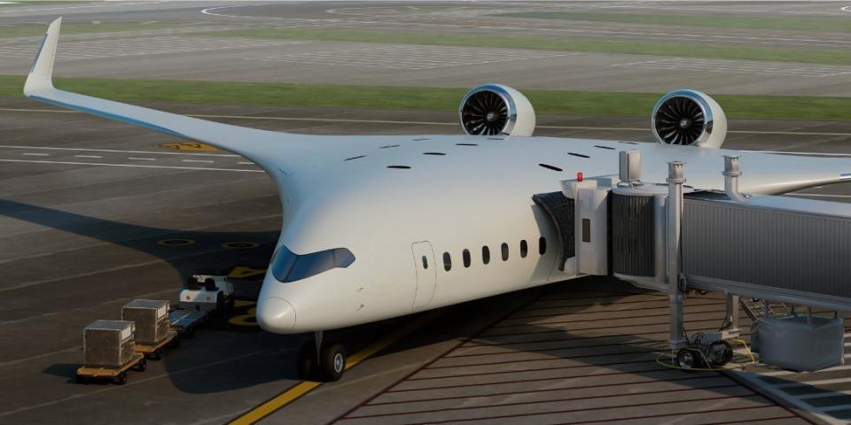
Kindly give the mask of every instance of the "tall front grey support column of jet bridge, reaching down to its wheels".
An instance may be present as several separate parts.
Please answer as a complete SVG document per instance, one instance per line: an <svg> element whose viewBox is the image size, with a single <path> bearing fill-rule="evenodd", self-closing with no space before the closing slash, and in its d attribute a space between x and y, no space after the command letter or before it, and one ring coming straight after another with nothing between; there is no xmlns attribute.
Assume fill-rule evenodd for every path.
<svg viewBox="0 0 851 425"><path fill-rule="evenodd" d="M685 292L680 288L680 225L683 220L683 162L668 162L668 298L670 299L671 349L688 344L683 326Z"/></svg>

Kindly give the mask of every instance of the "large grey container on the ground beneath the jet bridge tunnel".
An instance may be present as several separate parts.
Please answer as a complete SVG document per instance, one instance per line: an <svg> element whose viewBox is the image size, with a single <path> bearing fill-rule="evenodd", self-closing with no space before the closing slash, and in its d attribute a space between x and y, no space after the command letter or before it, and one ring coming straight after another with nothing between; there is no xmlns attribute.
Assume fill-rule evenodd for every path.
<svg viewBox="0 0 851 425"><path fill-rule="evenodd" d="M815 372L843 364L842 318L792 315L761 318L753 327L760 361L785 369Z"/></svg>

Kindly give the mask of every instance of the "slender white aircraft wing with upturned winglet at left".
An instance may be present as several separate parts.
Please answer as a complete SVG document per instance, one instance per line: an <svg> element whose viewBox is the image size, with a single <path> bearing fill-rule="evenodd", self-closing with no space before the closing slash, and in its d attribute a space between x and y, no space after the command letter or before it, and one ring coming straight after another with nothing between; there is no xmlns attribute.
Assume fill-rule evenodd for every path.
<svg viewBox="0 0 851 425"><path fill-rule="evenodd" d="M294 142L312 137L231 126L56 89L53 87L53 62L59 45L59 27L61 24L62 18L54 20L48 27L47 34L44 35L38 53L35 55L33 66L27 75L27 82L24 84L24 96L26 97L63 108L88 112L111 120L151 128L167 135L207 143L243 155L267 170L273 165L264 164L263 160L264 157L268 157L269 147L272 144L276 144L276 147L280 148L281 142ZM267 152L267 155L263 155L262 152Z"/></svg>

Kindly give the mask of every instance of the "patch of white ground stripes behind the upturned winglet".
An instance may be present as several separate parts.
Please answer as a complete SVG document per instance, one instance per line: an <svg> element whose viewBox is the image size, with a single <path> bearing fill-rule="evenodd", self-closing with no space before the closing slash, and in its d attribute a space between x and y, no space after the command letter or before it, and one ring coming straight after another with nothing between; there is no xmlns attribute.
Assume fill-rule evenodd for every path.
<svg viewBox="0 0 851 425"><path fill-rule="evenodd" d="M139 38L105 38L66 42L59 50L59 60L115 58L123 56L160 55L199 50L256 49L268 46L303 44L294 40L254 40L220 37L156 36ZM0 58L33 58L36 45L0 45Z"/></svg>

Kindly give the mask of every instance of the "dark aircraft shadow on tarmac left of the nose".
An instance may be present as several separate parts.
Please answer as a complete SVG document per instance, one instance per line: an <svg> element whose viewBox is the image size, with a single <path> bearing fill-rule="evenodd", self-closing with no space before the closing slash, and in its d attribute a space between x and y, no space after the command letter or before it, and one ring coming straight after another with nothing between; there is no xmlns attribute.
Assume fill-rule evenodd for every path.
<svg viewBox="0 0 851 425"><path fill-rule="evenodd" d="M226 273L239 265L265 269L280 235L279 230L206 232L150 228L5 199L0 199L0 215L144 252L168 262L183 279L197 270ZM185 240L191 240L192 243L162 243ZM223 248L224 243L245 241L256 243L256 246ZM235 283L238 298L256 300L262 273L256 277L261 280L239 280ZM175 295L180 284L175 282ZM181 348L165 352L161 362L168 371L169 379L179 390L211 393L281 379L296 379L295 355L305 336L279 336L260 332L254 321L252 307L251 302L238 301L234 313L215 317L207 326L199 328L196 336L184 339ZM238 326L240 322L246 326ZM82 352L73 352L68 359L82 360ZM71 382L77 367L80 367L80 363L63 362L53 364L42 372L67 377ZM130 382L134 377L144 379L145 375L131 372Z"/></svg>

